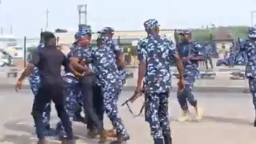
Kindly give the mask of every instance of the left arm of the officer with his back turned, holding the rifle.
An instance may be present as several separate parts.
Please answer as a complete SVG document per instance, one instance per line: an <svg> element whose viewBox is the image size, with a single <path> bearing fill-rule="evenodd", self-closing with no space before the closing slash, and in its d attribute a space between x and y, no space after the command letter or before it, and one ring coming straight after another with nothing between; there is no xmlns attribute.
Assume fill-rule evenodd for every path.
<svg viewBox="0 0 256 144"><path fill-rule="evenodd" d="M139 71L138 71L138 80L137 80L137 85L142 85L143 78L146 74L146 68L147 68L147 63L146 63L146 50L144 45L142 44L143 42L139 42L137 45L137 54L138 54L138 60L139 60Z"/></svg>

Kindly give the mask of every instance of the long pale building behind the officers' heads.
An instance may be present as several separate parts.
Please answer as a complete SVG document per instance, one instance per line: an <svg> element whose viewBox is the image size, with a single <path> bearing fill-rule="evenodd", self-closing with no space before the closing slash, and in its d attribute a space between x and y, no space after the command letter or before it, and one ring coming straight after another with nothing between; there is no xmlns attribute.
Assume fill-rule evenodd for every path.
<svg viewBox="0 0 256 144"><path fill-rule="evenodd" d="M166 35L167 37L170 37L173 41L175 41L174 38L174 30L171 29L163 29L160 31L161 35ZM66 33L55 33L55 35L58 37L58 43L61 44L71 44L75 40L75 32L66 32ZM118 42L121 46L128 46L132 45L133 41L137 41L141 38L144 38L147 36L147 33L144 30L132 30L132 31L115 31L113 40L115 42ZM98 37L97 33L92 34L92 44L96 43L96 39Z"/></svg>

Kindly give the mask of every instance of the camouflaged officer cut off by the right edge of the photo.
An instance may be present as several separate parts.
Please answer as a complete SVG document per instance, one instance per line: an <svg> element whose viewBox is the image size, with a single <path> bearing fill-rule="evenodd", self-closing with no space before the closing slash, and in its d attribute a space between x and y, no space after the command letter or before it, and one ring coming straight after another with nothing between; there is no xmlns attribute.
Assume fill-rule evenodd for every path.
<svg viewBox="0 0 256 144"><path fill-rule="evenodd" d="M249 81L249 90L252 95L252 102L255 110L254 127L256 127L256 27L249 27L248 40L244 44L248 62L245 68L245 76Z"/></svg>

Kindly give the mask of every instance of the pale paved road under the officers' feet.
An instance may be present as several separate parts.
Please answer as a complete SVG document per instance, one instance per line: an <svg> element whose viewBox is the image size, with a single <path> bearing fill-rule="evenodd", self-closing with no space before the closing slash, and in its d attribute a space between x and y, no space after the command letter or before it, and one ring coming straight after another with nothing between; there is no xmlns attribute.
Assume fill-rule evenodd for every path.
<svg viewBox="0 0 256 144"><path fill-rule="evenodd" d="M123 92L120 102L123 102L132 92ZM256 128L252 127L253 107L249 94L235 93L196 93L199 104L205 110L201 122L177 122L180 115L175 93L170 98L170 121L174 143L198 144L254 144ZM143 99L139 98L133 109L139 109ZM35 143L33 121L30 114L33 95L30 91L15 93L12 90L0 92L0 143L29 144ZM119 109L124 124L131 134L131 144L153 143L149 135L149 126L144 117L134 118L125 107ZM191 109L194 114L194 110ZM58 121L56 112L52 113L52 126ZM105 119L105 127L111 128L109 120ZM74 124L75 133L81 137L77 143L97 143L97 140L86 138L86 127L80 123ZM87 141L87 142L83 142Z"/></svg>

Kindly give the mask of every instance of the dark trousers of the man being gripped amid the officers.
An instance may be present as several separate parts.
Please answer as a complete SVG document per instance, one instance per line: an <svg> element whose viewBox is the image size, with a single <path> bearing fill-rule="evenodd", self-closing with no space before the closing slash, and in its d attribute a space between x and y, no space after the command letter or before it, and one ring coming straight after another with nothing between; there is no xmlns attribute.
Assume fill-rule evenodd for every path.
<svg viewBox="0 0 256 144"><path fill-rule="evenodd" d="M102 131L104 130L103 122L98 117L97 112L93 107L93 84L95 83L95 79L96 78L94 75L81 77L83 108L87 119L90 119L91 121L90 123L93 123L98 130Z"/></svg>

